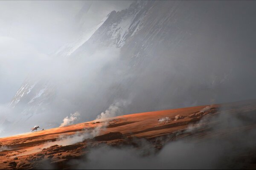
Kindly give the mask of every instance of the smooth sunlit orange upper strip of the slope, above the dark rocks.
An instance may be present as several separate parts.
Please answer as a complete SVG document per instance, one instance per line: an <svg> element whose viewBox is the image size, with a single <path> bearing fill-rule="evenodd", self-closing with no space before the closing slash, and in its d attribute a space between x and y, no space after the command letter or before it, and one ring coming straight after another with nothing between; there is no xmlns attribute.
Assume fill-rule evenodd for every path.
<svg viewBox="0 0 256 170"><path fill-rule="evenodd" d="M215 108L217 105L212 105L212 108ZM34 140L38 142L38 138L42 140L51 140L56 139L60 135L73 135L77 132L82 133L84 130L92 130L98 126L104 126L104 122L108 122L108 126L106 128L102 128L100 130L100 134L106 134L109 132L121 132L125 135L134 135L137 137L145 137L151 138L155 136L159 136L160 134L166 132L171 133L176 129L180 129L181 127L176 126L178 122L187 122L192 118L189 118L189 115L193 113L199 112L203 108L207 106L197 106L192 108L179 108L165 111L154 111L154 112L145 112L145 113L135 113L124 116L117 116L110 119L105 120L96 120L91 122L80 123L76 125L70 125L66 127L56 127L53 129L48 129L44 131L37 131L32 133L23 133L16 136L10 136L0 139L0 144L3 145L12 145L12 144L26 144L27 142L32 143ZM215 110L217 111L217 110ZM175 116L180 115L182 119L175 119ZM185 118L183 118L185 116ZM169 121L159 122L158 119L169 117ZM195 116L198 118L201 116ZM163 125L172 125L175 123L174 127L165 127L163 129L159 129ZM186 128L184 124L183 128ZM151 128L150 130L148 130ZM155 128L155 130L154 130ZM42 141L43 142L43 141Z"/></svg>

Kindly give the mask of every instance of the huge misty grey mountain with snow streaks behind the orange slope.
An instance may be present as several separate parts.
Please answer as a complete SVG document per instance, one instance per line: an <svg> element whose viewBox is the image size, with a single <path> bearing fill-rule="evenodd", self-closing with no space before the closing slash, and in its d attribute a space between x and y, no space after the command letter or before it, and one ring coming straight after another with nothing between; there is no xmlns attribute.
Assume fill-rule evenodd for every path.
<svg viewBox="0 0 256 170"><path fill-rule="evenodd" d="M136 1L112 11L55 53L69 61L64 78L26 79L9 106L18 122L39 116L47 126L75 111L92 120L118 101L128 101L123 114L253 98L253 4Z"/></svg>

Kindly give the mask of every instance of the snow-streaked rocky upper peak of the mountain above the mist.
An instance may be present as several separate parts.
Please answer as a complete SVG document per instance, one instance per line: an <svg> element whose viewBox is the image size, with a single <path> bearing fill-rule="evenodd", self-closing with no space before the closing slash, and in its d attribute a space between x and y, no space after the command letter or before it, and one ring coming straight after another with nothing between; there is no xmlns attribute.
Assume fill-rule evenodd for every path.
<svg viewBox="0 0 256 170"><path fill-rule="evenodd" d="M136 1L128 9L112 11L92 38L98 39L98 43L107 40L106 45L121 48L128 37L143 27L142 20L153 3L154 1Z"/></svg>

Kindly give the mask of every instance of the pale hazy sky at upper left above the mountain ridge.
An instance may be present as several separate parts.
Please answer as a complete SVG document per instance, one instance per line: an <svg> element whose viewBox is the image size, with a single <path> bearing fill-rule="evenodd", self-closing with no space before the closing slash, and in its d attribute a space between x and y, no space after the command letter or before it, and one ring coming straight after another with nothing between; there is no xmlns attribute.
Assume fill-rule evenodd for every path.
<svg viewBox="0 0 256 170"><path fill-rule="evenodd" d="M131 1L0 1L0 104L33 66Z"/></svg>

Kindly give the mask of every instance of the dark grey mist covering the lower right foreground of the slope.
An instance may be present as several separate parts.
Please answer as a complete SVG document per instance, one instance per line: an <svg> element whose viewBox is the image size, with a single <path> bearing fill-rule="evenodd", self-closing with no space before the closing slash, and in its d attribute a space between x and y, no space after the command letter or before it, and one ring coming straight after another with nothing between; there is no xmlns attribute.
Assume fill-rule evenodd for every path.
<svg viewBox="0 0 256 170"><path fill-rule="evenodd" d="M255 111L253 111L255 112ZM256 130L243 130L256 121L255 113L221 108L216 116L206 116L198 126L192 125L191 137L177 139L154 150L144 141L135 147L102 146L93 149L81 160L71 160L74 169L230 169L246 168L254 157L248 154L256 150ZM202 138L200 130L207 131ZM237 137L239 136L239 138ZM165 143L162 140L163 144ZM147 150L148 154L144 154ZM243 158L243 155L247 157Z"/></svg>

